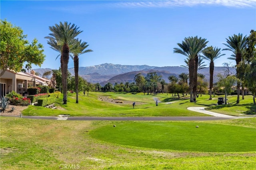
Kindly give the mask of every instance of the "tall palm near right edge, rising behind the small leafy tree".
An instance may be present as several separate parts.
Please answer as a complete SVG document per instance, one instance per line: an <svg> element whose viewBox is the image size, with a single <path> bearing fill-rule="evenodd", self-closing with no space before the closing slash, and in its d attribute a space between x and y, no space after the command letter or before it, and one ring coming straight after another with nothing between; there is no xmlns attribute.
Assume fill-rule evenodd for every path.
<svg viewBox="0 0 256 170"><path fill-rule="evenodd" d="M228 59L234 59L236 60L236 67L238 67L240 61L242 61L243 57L244 57L244 53L246 52L246 44L247 44L247 38L246 36L243 37L243 34L238 34L238 35L233 35L233 36L229 36L228 38L226 38L226 42L227 43L223 43L224 45L226 45L228 48L222 49L222 50L228 50L228 51L232 51L232 55L231 57L228 57ZM236 69L236 75L237 78L240 78L240 73L238 71L238 69ZM237 84L237 100L236 103L238 104L240 99L239 99L239 95L240 95L240 83Z"/></svg>

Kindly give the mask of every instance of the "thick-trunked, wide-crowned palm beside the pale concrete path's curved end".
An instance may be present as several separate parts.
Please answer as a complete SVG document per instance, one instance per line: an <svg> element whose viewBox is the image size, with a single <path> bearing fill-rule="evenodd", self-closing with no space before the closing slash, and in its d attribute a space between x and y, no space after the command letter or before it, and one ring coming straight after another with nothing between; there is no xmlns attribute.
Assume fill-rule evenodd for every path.
<svg viewBox="0 0 256 170"><path fill-rule="evenodd" d="M196 102L197 91L197 70L199 55L206 47L208 41L204 38L188 37L182 43L177 43L180 48L174 48L174 53L180 53L187 57L189 71L190 102Z"/></svg>

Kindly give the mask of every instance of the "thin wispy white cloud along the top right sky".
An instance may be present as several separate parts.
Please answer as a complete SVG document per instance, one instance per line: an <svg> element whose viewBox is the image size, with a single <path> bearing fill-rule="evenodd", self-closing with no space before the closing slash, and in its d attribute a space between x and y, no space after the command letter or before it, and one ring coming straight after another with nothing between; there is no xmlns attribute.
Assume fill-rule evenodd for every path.
<svg viewBox="0 0 256 170"><path fill-rule="evenodd" d="M226 6L233 8L256 8L256 0L141 0L114 3L126 8L172 8L181 6Z"/></svg>

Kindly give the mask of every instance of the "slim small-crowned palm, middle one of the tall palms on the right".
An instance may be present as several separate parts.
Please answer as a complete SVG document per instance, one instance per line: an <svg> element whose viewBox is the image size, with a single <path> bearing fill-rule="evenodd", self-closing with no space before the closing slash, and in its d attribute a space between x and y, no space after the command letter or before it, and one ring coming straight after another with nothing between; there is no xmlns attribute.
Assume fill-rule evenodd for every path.
<svg viewBox="0 0 256 170"><path fill-rule="evenodd" d="M208 47L203 51L203 58L210 61L210 98L209 100L212 100L212 87L213 87L213 72L214 72L214 60L221 57L225 54L220 54L220 48L218 47Z"/></svg>

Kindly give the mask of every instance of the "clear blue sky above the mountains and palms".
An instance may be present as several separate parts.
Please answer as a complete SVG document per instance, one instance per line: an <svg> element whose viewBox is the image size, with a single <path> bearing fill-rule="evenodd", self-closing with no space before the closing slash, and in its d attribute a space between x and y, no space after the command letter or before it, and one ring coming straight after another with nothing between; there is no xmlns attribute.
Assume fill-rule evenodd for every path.
<svg viewBox="0 0 256 170"><path fill-rule="evenodd" d="M49 26L70 22L83 32L93 52L80 55L80 67L102 63L180 66L185 56L173 53L185 37L206 38L221 49L228 36L256 30L256 0L80 0L0 1L0 18L19 26L32 42L44 45L41 68L58 69L58 53L50 49ZM231 53L215 60L222 66ZM208 64L208 61L205 61ZM233 61L234 64L234 61ZM74 67L70 59L68 67ZM33 69L39 68L33 65Z"/></svg>

